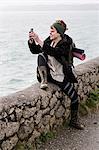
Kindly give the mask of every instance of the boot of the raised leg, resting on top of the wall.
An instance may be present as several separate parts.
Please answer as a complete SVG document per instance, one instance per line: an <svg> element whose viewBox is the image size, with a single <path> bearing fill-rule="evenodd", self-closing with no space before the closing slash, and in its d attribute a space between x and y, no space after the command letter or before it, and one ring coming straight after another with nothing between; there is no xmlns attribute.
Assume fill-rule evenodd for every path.
<svg viewBox="0 0 99 150"><path fill-rule="evenodd" d="M39 66L38 71L41 77L41 89L46 89L48 87L47 85L47 69L46 66Z"/></svg>

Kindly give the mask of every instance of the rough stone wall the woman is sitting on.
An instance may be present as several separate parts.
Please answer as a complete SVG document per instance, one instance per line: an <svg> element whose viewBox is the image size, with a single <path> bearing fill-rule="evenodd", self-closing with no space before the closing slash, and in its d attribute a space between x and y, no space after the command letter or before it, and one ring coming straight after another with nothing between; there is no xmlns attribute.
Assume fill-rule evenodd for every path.
<svg viewBox="0 0 99 150"><path fill-rule="evenodd" d="M99 57L76 68L76 89L81 101L99 87ZM70 112L70 100L55 85L47 91L39 83L0 98L0 150L11 150L19 141L32 143L41 133L61 125Z"/></svg>

